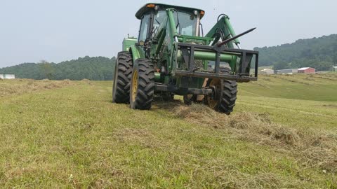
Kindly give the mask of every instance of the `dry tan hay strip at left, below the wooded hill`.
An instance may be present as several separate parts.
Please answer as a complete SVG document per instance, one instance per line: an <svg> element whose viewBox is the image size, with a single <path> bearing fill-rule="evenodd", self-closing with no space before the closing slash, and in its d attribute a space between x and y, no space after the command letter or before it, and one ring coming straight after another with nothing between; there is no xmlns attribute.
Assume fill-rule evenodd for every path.
<svg viewBox="0 0 337 189"><path fill-rule="evenodd" d="M24 94L38 90L55 89L72 85L71 80L32 80L14 79L0 80L0 97L13 94Z"/></svg>

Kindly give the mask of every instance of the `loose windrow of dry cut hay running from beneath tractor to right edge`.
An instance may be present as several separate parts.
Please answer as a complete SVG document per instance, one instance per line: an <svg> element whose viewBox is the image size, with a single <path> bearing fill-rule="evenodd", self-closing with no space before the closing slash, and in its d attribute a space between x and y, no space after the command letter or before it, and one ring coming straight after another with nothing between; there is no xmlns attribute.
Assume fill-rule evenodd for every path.
<svg viewBox="0 0 337 189"><path fill-rule="evenodd" d="M176 104L177 105L177 104ZM166 106L190 123L226 130L238 139L273 146L289 153L308 167L337 172L337 131L296 130L273 123L268 113L233 113L226 116L201 104Z"/></svg>

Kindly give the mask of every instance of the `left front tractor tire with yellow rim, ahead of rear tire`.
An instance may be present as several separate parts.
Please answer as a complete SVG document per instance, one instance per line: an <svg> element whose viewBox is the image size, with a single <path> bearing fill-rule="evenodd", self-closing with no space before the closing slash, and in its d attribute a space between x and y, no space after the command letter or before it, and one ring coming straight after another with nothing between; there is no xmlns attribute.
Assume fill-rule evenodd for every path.
<svg viewBox="0 0 337 189"><path fill-rule="evenodd" d="M149 59L136 59L130 90L131 109L151 109L154 96L154 66Z"/></svg>

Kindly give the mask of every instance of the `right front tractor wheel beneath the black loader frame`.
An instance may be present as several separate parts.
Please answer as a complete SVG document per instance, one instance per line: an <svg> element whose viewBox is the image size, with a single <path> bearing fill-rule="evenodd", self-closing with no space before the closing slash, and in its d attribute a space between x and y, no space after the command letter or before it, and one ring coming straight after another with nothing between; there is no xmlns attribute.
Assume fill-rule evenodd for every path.
<svg viewBox="0 0 337 189"><path fill-rule="evenodd" d="M230 73L230 69L220 68L222 73ZM212 87L213 97L206 96L206 104L215 111L229 115L235 106L237 99L237 82L235 80L209 79L208 87Z"/></svg>

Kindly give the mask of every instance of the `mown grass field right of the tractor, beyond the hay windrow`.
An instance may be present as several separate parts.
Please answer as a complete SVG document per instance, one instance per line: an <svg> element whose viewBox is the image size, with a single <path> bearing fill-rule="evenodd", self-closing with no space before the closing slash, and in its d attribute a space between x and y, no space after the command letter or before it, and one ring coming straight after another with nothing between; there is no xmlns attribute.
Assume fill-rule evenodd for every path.
<svg viewBox="0 0 337 189"><path fill-rule="evenodd" d="M309 80L308 80L309 78ZM259 76L241 83L236 111L267 112L291 127L336 129L337 73Z"/></svg>

